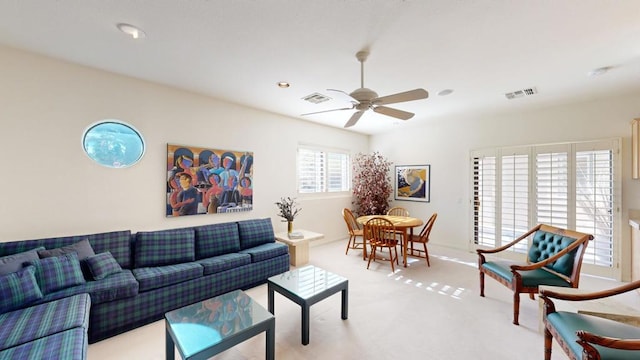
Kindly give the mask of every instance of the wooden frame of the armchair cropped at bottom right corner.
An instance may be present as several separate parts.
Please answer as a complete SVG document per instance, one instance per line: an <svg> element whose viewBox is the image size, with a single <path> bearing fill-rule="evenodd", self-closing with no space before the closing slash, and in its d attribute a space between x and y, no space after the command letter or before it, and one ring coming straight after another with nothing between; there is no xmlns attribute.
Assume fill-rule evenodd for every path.
<svg viewBox="0 0 640 360"><path fill-rule="evenodd" d="M612 349L621 350L638 350L640 351L640 339L619 339L607 336L602 336L587 331L577 331L576 341L582 346L583 352L580 357L576 357L575 354L569 348L567 342L560 336L558 331L553 325L547 321L547 316L556 312L555 304L551 299L565 300L565 301L584 301L607 298L622 293L626 293L635 289L640 289L640 280L634 281L625 285L621 285L612 289L582 293L582 294L564 294L561 291L541 290L540 297L544 301L543 305L543 323L544 329L544 358L545 360L551 360L552 339L555 338L558 344L564 352L572 360L600 360L600 354L594 345L599 345ZM583 315L588 316L588 315ZM640 353L638 354L640 358Z"/></svg>

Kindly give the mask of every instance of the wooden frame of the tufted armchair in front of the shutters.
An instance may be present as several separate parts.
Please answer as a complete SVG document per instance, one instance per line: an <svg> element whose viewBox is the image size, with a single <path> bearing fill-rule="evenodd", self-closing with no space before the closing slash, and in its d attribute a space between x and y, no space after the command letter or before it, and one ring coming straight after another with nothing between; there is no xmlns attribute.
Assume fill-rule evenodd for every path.
<svg viewBox="0 0 640 360"><path fill-rule="evenodd" d="M537 263L530 263L529 260L528 260L528 256L527 256L526 264L513 264L513 265L511 265L510 266L511 267L511 273L512 273L511 281L506 280L505 278L499 276L498 274L496 274L494 272L487 271L482 266L485 262L487 262L486 258L485 258L485 255L487 255L487 254L497 254L497 253L499 253L501 251L505 251L505 250L515 246L516 244L518 244L521 241L528 241L527 238L530 235L534 234L538 230L545 231L547 233L567 236L567 237L570 237L570 238L574 238L576 240L573 241L571 243L571 245L567 246L562 251L559 251L554 256L550 256L546 260L543 260L543 261L540 261L540 262L537 262ZM573 231L573 230L562 229L562 228L549 226L549 225L545 225L545 224L538 224L535 227L533 227L531 230L527 231L526 233L522 234L517 239L513 240L512 242L510 242L510 243L508 243L506 245L503 245L503 246L500 246L500 247L497 247L497 248L494 248L494 249L477 249L476 252L478 253L478 270L479 270L479 275L480 275L480 296L484 297L484 276L485 276L485 274L488 275L489 277L494 278L499 283L501 283L504 286L506 286L506 287L510 288L511 290L513 290L513 323L515 325L519 325L519 323L518 323L518 315L520 313L520 294L522 294L522 293L529 294L529 298L531 298L533 300L534 299L534 294L538 293L538 285L536 285L536 286L524 286L524 284L522 282L522 275L520 274L520 272L536 270L536 269L548 270L547 268L545 268L545 266L547 264L555 262L556 260L560 259L562 256L564 256L567 253L573 251L574 249L578 249L576 251L576 253L575 253L575 258L574 258L574 261L573 261L573 270L571 272L571 276L565 276L563 274L559 274L559 273L553 272L552 270L548 270L548 271L552 272L553 274L558 275L561 278L563 278L567 282L568 287L577 288L578 285L579 285L579 282L580 282L580 269L582 267L582 258L584 257L584 252L587 249L587 245L589 243L589 240L592 240L592 239L593 239L593 235L591 235L591 234L585 234L585 233L581 233L581 232L577 232L577 231ZM545 285L545 284L539 284L539 285Z"/></svg>

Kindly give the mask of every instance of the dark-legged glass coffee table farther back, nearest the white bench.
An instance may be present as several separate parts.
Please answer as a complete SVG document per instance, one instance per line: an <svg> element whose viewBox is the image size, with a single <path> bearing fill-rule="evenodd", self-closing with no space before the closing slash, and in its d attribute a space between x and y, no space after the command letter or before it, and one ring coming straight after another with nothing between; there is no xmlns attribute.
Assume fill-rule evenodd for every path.
<svg viewBox="0 0 640 360"><path fill-rule="evenodd" d="M349 310L349 280L340 275L309 265L275 275L267 280L269 312L274 312L274 292L278 292L302 308L302 345L309 344L309 308L327 297L342 292L342 320Z"/></svg>

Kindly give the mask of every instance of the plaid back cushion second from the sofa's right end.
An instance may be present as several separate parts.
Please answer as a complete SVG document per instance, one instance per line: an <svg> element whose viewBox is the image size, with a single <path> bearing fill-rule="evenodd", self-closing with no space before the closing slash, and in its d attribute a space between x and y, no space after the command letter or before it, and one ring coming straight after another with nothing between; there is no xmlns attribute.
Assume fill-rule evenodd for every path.
<svg viewBox="0 0 640 360"><path fill-rule="evenodd" d="M235 222L199 226L196 231L196 259L238 252L240 233Z"/></svg>

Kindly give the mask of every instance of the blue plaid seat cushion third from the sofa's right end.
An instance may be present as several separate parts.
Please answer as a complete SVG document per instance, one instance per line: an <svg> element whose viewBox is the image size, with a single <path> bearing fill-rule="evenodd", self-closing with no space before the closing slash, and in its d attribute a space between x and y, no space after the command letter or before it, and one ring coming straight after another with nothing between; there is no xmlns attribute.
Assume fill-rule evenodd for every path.
<svg viewBox="0 0 640 360"><path fill-rule="evenodd" d="M140 283L140 292L195 279L202 273L202 266L194 262L133 269L133 275Z"/></svg>

